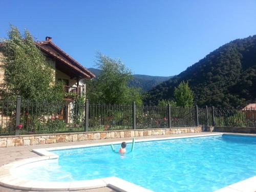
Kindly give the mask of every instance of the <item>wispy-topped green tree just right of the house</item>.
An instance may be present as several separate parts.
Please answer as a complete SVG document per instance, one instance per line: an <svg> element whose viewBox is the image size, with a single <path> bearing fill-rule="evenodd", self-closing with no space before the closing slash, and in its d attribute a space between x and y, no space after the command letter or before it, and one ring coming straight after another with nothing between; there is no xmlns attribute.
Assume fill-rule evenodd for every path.
<svg viewBox="0 0 256 192"><path fill-rule="evenodd" d="M96 66L102 70L97 79L87 83L87 98L90 102L107 104L142 104L141 93L128 87L133 78L130 69L120 59L113 59L98 53Z"/></svg>

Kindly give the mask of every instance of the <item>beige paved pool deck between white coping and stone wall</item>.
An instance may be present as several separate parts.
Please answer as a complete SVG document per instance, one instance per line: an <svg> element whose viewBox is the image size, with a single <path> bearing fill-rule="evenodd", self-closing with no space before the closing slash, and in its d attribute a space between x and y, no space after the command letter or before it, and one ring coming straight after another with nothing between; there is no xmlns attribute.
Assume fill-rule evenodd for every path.
<svg viewBox="0 0 256 192"><path fill-rule="evenodd" d="M203 135L216 135L218 133L210 133L210 132L202 132L202 133L189 133L189 134L176 134L176 135L159 135L159 136L146 136L146 137L136 137L136 139L160 139L160 138L175 138L175 137L185 137L185 136L203 136ZM227 134L227 133L225 133ZM232 133L233 134L233 133ZM241 134L238 134L241 135ZM244 135L253 135L255 134L244 134ZM41 144L41 145L33 145L33 146L17 146L17 147L7 147L0 148L0 166L11 163L13 161L19 161L22 159L32 158L32 157L40 157L39 155L32 152L34 149L40 148L52 148L52 147L63 147L63 146L74 146L74 145L84 145L84 144L98 144L98 143L108 143L108 142L121 142L125 140L125 138L118 139L104 139L104 140L87 140L87 141L78 141L78 142L69 142L69 143L53 143L53 144ZM9 191L28 191L28 190L15 190L9 189L0 186L0 191L9 192ZM97 189L87 189L87 190L78 190L78 191L102 191L102 192L110 192L115 191L108 187L100 187Z"/></svg>

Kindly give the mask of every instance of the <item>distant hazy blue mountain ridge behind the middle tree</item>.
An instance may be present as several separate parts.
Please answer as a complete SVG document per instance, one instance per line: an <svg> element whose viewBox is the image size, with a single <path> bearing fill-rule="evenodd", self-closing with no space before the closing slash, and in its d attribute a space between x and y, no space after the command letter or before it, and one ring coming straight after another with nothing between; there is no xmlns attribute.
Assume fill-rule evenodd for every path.
<svg viewBox="0 0 256 192"><path fill-rule="evenodd" d="M89 70L96 75L96 77L101 73L101 70L95 68L89 68ZM161 76L150 76L150 75L133 75L134 79L129 82L129 86L141 88L142 91L148 91L153 87L157 86L159 83L168 80L169 77Z"/></svg>

